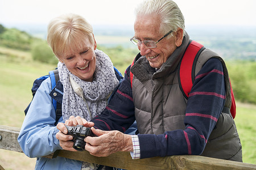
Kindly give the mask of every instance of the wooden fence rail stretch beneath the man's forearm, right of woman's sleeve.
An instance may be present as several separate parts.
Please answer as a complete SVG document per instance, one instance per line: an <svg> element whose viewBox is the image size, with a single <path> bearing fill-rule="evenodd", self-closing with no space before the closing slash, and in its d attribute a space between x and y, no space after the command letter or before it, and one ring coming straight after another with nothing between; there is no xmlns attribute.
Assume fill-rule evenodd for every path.
<svg viewBox="0 0 256 170"><path fill-rule="evenodd" d="M123 169L209 169L209 170L235 170L256 169L256 165L231 160L208 158L197 155L175 155L166 157L154 157L146 159L131 159L129 152L117 152L107 157L96 157L88 151L65 151L61 150L58 156L81 160L84 162L108 165Z"/></svg>

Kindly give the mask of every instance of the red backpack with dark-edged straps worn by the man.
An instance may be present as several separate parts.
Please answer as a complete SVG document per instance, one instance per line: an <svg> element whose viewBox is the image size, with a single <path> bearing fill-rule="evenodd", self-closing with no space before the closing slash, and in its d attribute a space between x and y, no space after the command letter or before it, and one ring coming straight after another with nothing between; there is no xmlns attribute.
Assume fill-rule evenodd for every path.
<svg viewBox="0 0 256 170"><path fill-rule="evenodd" d="M181 92L183 96L188 99L189 92L193 86L193 82L195 81L195 69L196 69L196 62L199 58L201 52L205 47L199 44L196 41L189 41L187 49L183 54L183 58L179 64L178 69L178 82ZM134 63L141 57L140 53L134 58L133 62L131 63L131 67ZM130 71L130 82L131 87L133 86L133 73ZM229 79L230 82L230 79ZM230 90L231 90L231 97L232 97L232 104L230 108L230 113L232 117L236 117L236 101L234 100L234 94L230 83ZM225 108L226 109L226 108Z"/></svg>

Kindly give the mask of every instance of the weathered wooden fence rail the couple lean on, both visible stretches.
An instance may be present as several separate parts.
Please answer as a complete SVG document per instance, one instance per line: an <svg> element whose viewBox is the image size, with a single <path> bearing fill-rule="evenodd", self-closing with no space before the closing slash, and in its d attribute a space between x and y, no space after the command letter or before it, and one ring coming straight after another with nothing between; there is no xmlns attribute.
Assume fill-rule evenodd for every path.
<svg viewBox="0 0 256 170"><path fill-rule="evenodd" d="M22 152L17 142L19 130L19 128L0 125L0 149ZM55 152L55 155L52 154L46 157L54 159L54 156L62 156L64 158L123 169L256 169L255 164L196 155L177 155L133 160L129 152L117 152L107 157L96 157L90 155L87 151L71 152L60 150L59 152ZM1 165L0 169L3 169Z"/></svg>

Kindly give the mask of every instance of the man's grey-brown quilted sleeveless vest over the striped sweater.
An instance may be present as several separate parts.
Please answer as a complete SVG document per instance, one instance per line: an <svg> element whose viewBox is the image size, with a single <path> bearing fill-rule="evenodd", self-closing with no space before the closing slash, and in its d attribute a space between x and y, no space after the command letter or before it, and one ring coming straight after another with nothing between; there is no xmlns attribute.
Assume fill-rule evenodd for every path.
<svg viewBox="0 0 256 170"><path fill-rule="evenodd" d="M150 67L146 57L141 57L131 67L135 117L140 134L163 134L165 131L185 129L184 117L187 99L178 83L178 71L188 39L175 50L160 70ZM228 70L221 57L205 49L197 59L195 74L199 73L209 58L218 58L224 67L225 84L229 84ZM230 86L226 87L226 107L230 108ZM229 147L226 147L229 146ZM222 112L210 134L202 156L242 162L242 146L236 125L230 113Z"/></svg>

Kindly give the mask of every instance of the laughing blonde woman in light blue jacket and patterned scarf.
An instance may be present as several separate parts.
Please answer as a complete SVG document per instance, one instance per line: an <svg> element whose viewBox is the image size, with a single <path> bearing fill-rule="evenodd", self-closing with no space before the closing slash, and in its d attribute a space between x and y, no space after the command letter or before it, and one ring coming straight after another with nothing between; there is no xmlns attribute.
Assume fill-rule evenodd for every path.
<svg viewBox="0 0 256 170"><path fill-rule="evenodd" d="M79 15L68 14L53 19L48 25L47 41L59 59L60 81L56 87L63 87L60 92L63 93L63 116L59 122L71 116L90 121L106 107L109 96L122 79L121 74L114 69L110 58L96 49L92 26ZM63 149L56 138L59 130L55 126L51 91L48 78L31 102L18 137L24 154L37 158L35 169L105 169L102 165L59 156L53 159L42 157Z"/></svg>

